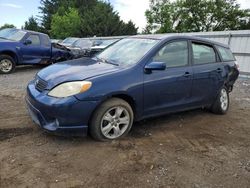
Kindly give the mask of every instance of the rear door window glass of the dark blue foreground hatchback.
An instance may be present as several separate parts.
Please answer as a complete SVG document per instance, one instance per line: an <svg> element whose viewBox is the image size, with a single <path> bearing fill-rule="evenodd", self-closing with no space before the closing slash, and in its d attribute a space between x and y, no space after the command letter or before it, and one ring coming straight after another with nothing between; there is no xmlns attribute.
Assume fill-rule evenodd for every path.
<svg viewBox="0 0 250 188"><path fill-rule="evenodd" d="M215 63L216 54L212 46L192 43L194 64Z"/></svg>

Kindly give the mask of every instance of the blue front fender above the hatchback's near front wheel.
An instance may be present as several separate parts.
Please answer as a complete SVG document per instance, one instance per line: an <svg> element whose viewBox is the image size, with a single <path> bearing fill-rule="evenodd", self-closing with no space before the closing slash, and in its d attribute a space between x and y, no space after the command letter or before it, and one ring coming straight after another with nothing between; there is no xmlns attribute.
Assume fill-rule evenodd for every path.
<svg viewBox="0 0 250 188"><path fill-rule="evenodd" d="M136 116L143 112L143 70L140 66L89 79L92 87L75 97L78 100L105 101L111 97L131 98Z"/></svg>

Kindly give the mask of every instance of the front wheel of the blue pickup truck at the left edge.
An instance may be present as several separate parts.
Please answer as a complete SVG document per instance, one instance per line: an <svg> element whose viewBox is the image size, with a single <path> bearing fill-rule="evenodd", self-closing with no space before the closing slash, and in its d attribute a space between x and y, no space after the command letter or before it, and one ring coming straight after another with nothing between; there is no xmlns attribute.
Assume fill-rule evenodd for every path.
<svg viewBox="0 0 250 188"><path fill-rule="evenodd" d="M9 55L0 55L0 73L10 74L15 70L15 60Z"/></svg>

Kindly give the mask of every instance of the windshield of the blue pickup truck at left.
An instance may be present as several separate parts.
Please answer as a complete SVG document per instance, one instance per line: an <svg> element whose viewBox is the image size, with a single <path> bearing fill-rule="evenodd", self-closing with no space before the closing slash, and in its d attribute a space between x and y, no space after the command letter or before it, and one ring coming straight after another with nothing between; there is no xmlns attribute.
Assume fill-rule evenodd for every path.
<svg viewBox="0 0 250 188"><path fill-rule="evenodd" d="M20 41L25 36L26 33L27 33L26 31L7 28L0 30L0 38L13 41Z"/></svg>

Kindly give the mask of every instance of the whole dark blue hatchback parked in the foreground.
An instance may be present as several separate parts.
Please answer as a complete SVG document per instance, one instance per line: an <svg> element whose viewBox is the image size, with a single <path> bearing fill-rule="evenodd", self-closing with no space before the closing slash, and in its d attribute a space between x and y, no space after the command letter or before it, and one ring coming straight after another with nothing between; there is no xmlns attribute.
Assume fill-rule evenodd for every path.
<svg viewBox="0 0 250 188"><path fill-rule="evenodd" d="M122 39L94 58L38 72L27 87L34 122L52 132L125 136L134 121L195 108L225 114L239 71L228 46L188 36Z"/></svg>

